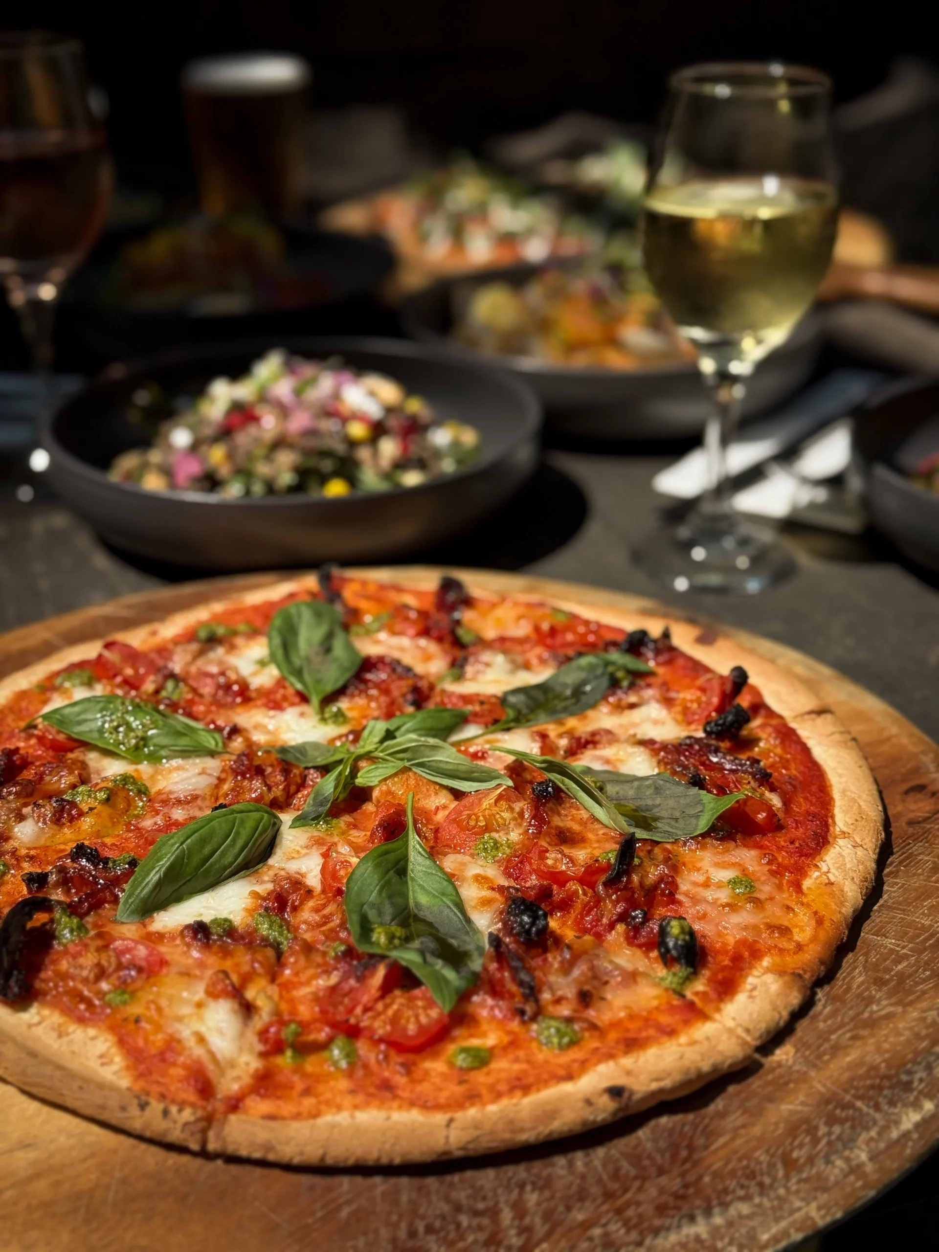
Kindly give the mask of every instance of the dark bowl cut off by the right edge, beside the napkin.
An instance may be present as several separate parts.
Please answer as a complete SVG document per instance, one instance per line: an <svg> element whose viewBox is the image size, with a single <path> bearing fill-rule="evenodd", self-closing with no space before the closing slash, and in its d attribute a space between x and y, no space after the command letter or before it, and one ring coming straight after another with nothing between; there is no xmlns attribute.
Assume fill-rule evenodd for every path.
<svg viewBox="0 0 939 1252"><path fill-rule="evenodd" d="M906 475L939 452L939 382L904 378L855 414L854 454L878 530L918 565L939 570L939 495Z"/></svg>

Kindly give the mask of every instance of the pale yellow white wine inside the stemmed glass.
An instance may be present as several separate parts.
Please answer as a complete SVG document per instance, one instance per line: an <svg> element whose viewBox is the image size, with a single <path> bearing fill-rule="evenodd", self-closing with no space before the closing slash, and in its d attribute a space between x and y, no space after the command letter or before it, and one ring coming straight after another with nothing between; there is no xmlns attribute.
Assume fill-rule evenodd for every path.
<svg viewBox="0 0 939 1252"><path fill-rule="evenodd" d="M642 213L652 285L682 334L759 361L811 304L831 257L828 183L697 179L654 189Z"/></svg>

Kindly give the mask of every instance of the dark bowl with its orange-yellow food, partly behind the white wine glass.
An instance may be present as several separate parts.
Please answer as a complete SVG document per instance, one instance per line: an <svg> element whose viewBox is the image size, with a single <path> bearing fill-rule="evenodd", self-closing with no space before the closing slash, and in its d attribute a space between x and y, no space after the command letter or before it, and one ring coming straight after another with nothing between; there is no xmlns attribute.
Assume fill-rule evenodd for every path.
<svg viewBox="0 0 939 1252"><path fill-rule="evenodd" d="M532 387L550 423L592 438L674 438L709 413L694 352L670 323L629 244L583 262L442 278L402 302L411 338L486 361ZM809 316L756 369L756 413L808 379L820 349Z"/></svg>

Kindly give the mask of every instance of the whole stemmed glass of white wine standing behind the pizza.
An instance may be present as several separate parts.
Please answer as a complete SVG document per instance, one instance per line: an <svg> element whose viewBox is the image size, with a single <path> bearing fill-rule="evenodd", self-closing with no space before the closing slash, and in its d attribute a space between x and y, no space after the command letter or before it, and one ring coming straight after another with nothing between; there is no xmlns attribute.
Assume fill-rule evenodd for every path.
<svg viewBox="0 0 939 1252"><path fill-rule="evenodd" d="M694 65L671 79L642 253L697 349L714 413L704 495L635 556L676 591L756 592L794 567L772 530L734 511L726 454L754 367L808 312L831 257L830 86L818 70L777 63Z"/></svg>

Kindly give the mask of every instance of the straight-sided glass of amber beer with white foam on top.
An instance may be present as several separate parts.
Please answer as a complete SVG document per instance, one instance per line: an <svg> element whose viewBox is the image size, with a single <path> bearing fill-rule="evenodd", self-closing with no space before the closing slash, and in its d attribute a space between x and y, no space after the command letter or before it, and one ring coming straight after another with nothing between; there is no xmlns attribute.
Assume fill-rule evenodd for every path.
<svg viewBox="0 0 939 1252"><path fill-rule="evenodd" d="M189 140L208 217L303 208L310 68L287 53L207 56L183 70Z"/></svg>

